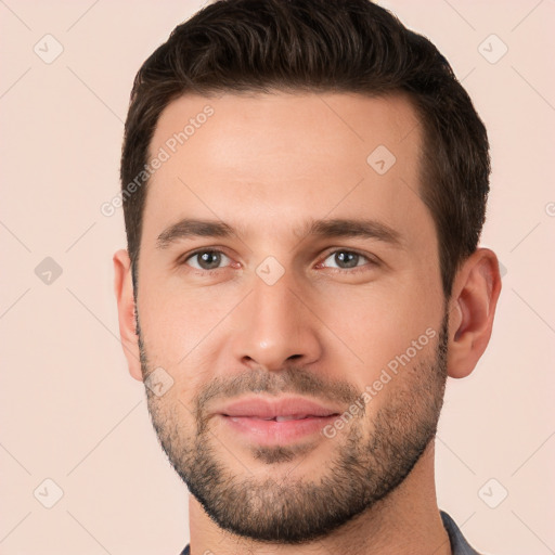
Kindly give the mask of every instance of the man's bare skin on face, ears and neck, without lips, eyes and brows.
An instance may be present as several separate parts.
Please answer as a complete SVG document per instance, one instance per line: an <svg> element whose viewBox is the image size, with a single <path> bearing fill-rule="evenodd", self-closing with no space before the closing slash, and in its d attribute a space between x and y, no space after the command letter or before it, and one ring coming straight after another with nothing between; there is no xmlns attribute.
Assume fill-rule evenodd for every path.
<svg viewBox="0 0 555 555"><path fill-rule="evenodd" d="M205 491L221 500L232 492L243 495L219 512L217 500L205 499L203 506L190 496L193 555L451 553L436 500L434 440L422 430L427 426L433 438L447 376L467 376L489 343L501 291L495 254L478 248L460 268L451 298L443 298L434 221L418 196L422 132L403 95L186 95L163 112L151 153L207 104L214 115L147 185L138 267L141 341L129 256L124 249L114 255L129 371L143 380L162 366L173 380L160 397L146 388L164 449L178 473L194 482L190 489L208 477ZM385 175L366 163L380 144L397 158ZM237 233L157 248L160 233L185 217L224 221ZM378 220L399 233L401 246L295 231L326 218ZM185 261L201 247L225 255L215 272L203 269L198 257ZM362 255L356 267L339 264L334 255L345 250ZM284 271L273 285L256 272L269 256ZM347 410L348 400L428 328L436 332L434 339L333 438L314 435L261 448L212 414L248 391L271 398L287 390ZM410 459L418 435L423 451L412 453L411 467L388 459L386 447ZM376 438L382 442L371 452ZM365 473L349 475L346 453ZM388 480L378 463L399 483ZM360 487L349 492L353 500L358 493L364 498L364 480L373 488L365 492L365 509L343 526L306 541L299 529L296 543L233 530L260 528L284 506L307 520L314 506L325 513L327 504L310 503L306 493L332 478L332 469L345 480L340 483ZM387 491L379 492L380 486ZM317 499L326 499L328 492L318 491ZM341 498L335 491L330 506ZM234 515L241 515L235 522ZM298 521L302 518L292 520Z"/></svg>

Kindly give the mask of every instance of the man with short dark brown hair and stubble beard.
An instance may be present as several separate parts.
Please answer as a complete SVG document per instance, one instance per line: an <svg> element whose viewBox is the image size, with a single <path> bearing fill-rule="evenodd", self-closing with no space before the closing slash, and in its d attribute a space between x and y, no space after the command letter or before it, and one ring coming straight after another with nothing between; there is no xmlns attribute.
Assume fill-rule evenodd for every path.
<svg viewBox="0 0 555 555"><path fill-rule="evenodd" d="M448 62L366 0L218 1L144 63L115 289L183 554L476 553L434 439L501 291L489 173Z"/></svg>

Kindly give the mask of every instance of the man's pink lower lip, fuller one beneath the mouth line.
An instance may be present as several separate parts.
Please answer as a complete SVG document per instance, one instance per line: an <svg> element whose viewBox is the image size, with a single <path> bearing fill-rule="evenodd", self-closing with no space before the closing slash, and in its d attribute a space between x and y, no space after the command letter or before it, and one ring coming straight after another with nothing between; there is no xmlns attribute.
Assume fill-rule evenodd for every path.
<svg viewBox="0 0 555 555"><path fill-rule="evenodd" d="M291 443L307 436L320 433L324 426L337 418L332 416L311 416L298 421L263 421L251 416L220 415L224 422L238 433L248 436L261 444ZM232 420L233 418L233 420Z"/></svg>

